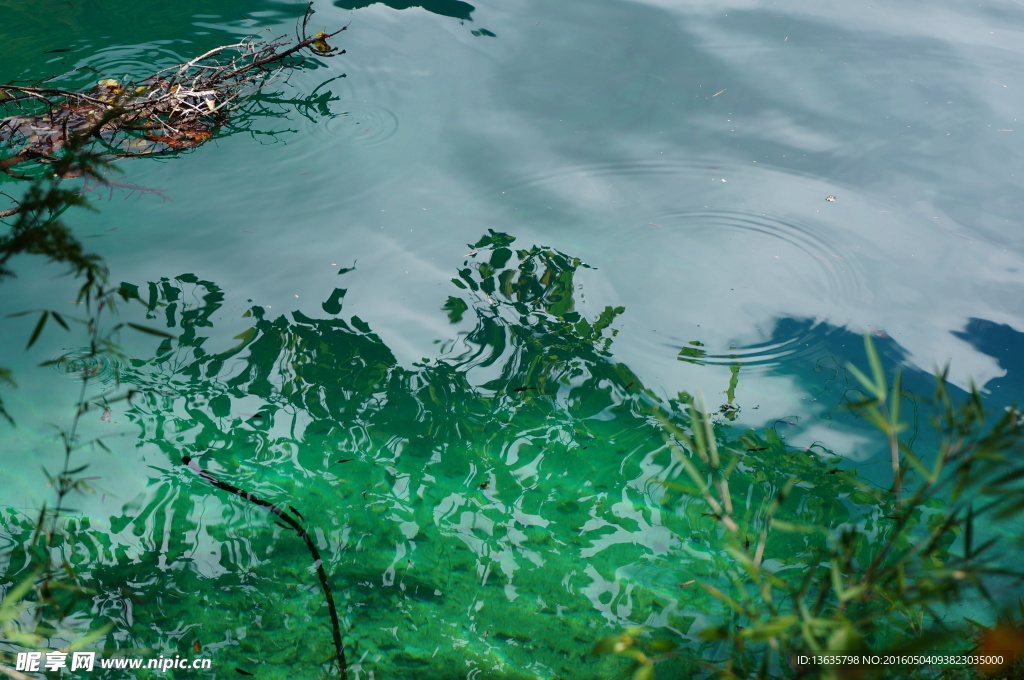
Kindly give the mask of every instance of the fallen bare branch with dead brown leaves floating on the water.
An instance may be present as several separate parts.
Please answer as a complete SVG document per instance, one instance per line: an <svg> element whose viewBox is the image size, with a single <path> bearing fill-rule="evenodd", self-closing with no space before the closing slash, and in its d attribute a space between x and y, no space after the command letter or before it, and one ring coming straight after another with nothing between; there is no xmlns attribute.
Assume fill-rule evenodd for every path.
<svg viewBox="0 0 1024 680"><path fill-rule="evenodd" d="M289 57L302 50L316 56L345 53L327 41L348 27L309 36L312 14L310 3L294 40L251 36L140 80L106 78L85 92L41 84L0 85L0 115L9 114L0 119L0 142L10 150L0 158L0 172L33 179L13 168L57 162L76 135L90 137L105 158L152 156L202 144L283 71L301 66L301 60ZM61 176L79 174L72 168ZM17 211L3 210L0 216Z"/></svg>

